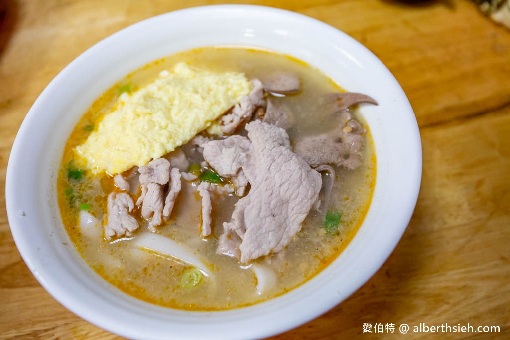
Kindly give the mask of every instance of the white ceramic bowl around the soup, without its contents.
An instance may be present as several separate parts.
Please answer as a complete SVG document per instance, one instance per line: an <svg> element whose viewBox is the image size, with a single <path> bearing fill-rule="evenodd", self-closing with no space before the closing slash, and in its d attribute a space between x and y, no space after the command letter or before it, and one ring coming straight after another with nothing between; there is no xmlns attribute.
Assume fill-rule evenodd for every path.
<svg viewBox="0 0 510 340"><path fill-rule="evenodd" d="M199 46L248 45L321 69L364 106L377 156L372 204L358 234L327 269L281 297L249 307L192 312L128 296L95 274L69 241L56 179L64 144L95 98L146 63ZM393 251L416 204L421 179L417 122L390 71L344 33L299 14L255 6L177 11L97 43L46 87L23 121L7 172L7 211L28 267L55 299L89 322L131 338L241 339L269 336L318 317L358 289ZM361 327L361 326L360 326Z"/></svg>

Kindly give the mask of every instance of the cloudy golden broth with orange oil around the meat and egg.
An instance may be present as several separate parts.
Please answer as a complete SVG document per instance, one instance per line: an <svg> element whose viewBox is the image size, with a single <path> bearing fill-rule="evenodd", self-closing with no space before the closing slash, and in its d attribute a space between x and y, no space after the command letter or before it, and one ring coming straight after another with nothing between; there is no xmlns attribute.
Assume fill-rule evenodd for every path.
<svg viewBox="0 0 510 340"><path fill-rule="evenodd" d="M93 175L89 170L81 170L74 148L83 144L97 128L121 93L136 91L179 62L214 71L244 72L248 79L263 79L268 74L282 71L296 74L301 82L299 93L270 94L274 103L283 104L292 113L293 125L287 130L291 143L303 136L327 132L331 126L339 124L340 117L325 110L321 98L343 90L322 72L293 58L244 48L202 48L158 60L127 75L106 91L74 128L65 147L57 188L66 231L83 259L98 275L121 291L151 303L189 310L228 309L286 293L317 275L341 253L368 210L375 159L368 127L357 110L351 110L353 117L367 128L367 133L363 134L361 166L355 170L334 166L336 178L326 221L323 214L312 210L303 221L301 231L279 253L246 264L217 254L222 223L230 220L239 198L232 194L211 196L212 235L203 238L200 237L201 202L196 192L197 182L184 180L170 220L158 226L157 233L192 250L208 266L209 276L203 273L197 276L190 265L136 247L138 233L148 232L148 222L141 217L138 221L142 230L133 237L110 241L105 239L101 225L88 231L79 227L80 211L103 221L107 214L107 196L117 189L110 174ZM262 293L260 287L258 292L257 286L264 283L260 282L263 278L257 277L253 266L264 268L275 276L275 283Z"/></svg>

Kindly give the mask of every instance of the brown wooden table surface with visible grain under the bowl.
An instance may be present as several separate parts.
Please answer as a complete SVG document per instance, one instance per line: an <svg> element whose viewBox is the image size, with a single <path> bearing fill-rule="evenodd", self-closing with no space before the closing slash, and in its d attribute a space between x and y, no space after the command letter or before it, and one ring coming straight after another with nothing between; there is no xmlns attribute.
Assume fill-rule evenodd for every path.
<svg viewBox="0 0 510 340"><path fill-rule="evenodd" d="M112 339L35 280L12 239L5 175L16 132L57 73L134 22L222 1L0 1L0 339ZM386 264L350 298L278 339L428 338L398 325L497 325L510 337L510 30L470 2L238 1L305 14L367 46L411 101L423 143L414 216ZM374 329L372 328L372 331Z"/></svg>

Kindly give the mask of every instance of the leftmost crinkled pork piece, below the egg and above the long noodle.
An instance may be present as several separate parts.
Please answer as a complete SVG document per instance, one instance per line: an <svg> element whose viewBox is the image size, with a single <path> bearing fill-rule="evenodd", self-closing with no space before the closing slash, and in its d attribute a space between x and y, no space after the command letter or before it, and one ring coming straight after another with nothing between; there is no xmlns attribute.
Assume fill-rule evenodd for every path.
<svg viewBox="0 0 510 340"><path fill-rule="evenodd" d="M105 224L105 238L133 236L140 227L136 218L129 213L135 208L133 198L128 193L112 192L108 195L108 219Z"/></svg>

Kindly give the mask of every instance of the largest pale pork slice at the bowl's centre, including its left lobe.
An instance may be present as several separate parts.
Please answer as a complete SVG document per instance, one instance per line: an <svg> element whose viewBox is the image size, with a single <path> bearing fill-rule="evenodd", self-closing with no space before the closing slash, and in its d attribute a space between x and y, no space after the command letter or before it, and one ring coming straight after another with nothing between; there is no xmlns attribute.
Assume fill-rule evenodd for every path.
<svg viewBox="0 0 510 340"><path fill-rule="evenodd" d="M292 152L284 129L258 121L245 128L249 140L239 136L232 140L233 136L216 141L220 145L213 146L226 151L216 151L214 159L206 155L213 142L204 148L209 164L213 168L213 164L219 165L215 168L218 173L226 164L236 164L228 170L242 170L251 185L248 194L237 201L231 221L223 223L230 239L235 232L242 240L239 251L243 263L287 246L301 229L322 185L320 174ZM220 246L227 240L223 237Z"/></svg>

